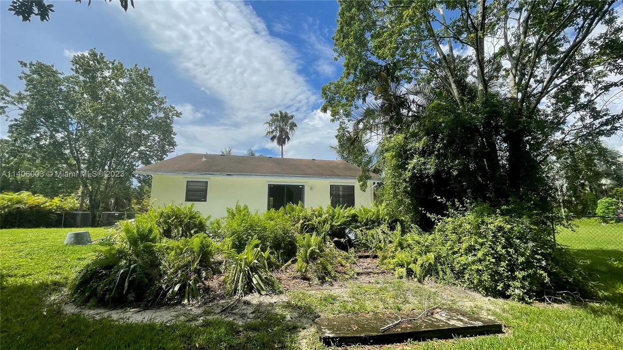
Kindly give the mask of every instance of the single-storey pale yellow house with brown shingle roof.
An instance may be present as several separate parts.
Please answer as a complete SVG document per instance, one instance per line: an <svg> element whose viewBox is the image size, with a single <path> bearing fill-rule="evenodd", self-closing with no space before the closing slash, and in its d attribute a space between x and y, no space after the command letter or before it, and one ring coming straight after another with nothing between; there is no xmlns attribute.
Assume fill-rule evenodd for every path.
<svg viewBox="0 0 623 350"><path fill-rule="evenodd" d="M186 153L138 169L152 176L156 206L194 203L204 215L223 217L236 202L264 212L288 203L304 206L370 206L371 174L366 191L356 177L361 169L345 161Z"/></svg>

